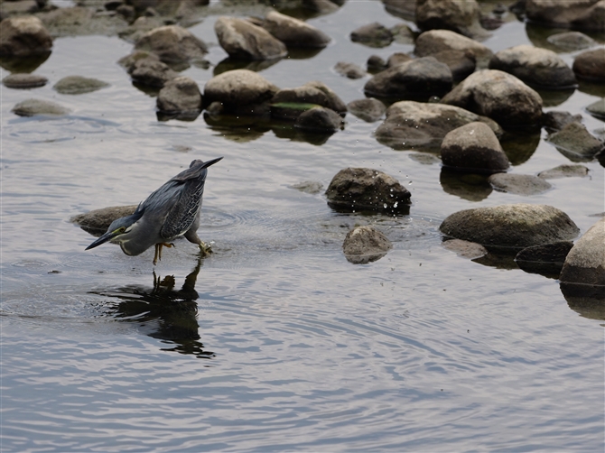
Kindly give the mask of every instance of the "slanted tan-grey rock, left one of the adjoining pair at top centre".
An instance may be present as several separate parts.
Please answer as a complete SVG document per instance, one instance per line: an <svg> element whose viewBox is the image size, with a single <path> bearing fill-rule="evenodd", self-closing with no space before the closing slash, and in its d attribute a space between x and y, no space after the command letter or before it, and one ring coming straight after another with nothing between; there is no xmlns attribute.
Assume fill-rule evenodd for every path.
<svg viewBox="0 0 605 453"><path fill-rule="evenodd" d="M288 51L284 42L275 39L264 28L234 17L219 17L214 31L230 57L239 60L273 60Z"/></svg>

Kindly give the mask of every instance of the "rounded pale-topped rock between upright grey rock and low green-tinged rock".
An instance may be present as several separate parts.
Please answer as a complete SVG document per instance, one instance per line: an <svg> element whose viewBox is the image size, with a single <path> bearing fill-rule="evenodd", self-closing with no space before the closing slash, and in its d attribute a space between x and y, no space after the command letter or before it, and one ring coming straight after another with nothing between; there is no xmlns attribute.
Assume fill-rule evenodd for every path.
<svg viewBox="0 0 605 453"><path fill-rule="evenodd" d="M256 106L270 101L279 88L263 76L248 69L235 69L223 72L209 79L204 87L204 105L221 103L227 111L243 111L249 114L261 114L262 108Z"/></svg>

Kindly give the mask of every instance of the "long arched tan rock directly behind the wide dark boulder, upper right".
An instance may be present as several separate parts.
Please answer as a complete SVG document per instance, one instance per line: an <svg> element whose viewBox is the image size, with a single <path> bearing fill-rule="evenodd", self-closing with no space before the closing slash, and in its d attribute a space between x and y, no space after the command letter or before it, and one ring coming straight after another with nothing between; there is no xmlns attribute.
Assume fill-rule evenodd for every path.
<svg viewBox="0 0 605 453"><path fill-rule="evenodd" d="M493 52L480 42L450 30L430 30L418 36L414 53L419 57L428 57L441 51L470 51L477 59L479 68L486 67L493 55Z"/></svg>

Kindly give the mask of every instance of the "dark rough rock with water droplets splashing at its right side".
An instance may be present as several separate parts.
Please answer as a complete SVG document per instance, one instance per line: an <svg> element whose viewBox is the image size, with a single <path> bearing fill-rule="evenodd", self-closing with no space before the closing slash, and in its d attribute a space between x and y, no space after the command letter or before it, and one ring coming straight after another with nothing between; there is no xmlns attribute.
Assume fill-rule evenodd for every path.
<svg viewBox="0 0 605 453"><path fill-rule="evenodd" d="M326 190L328 206L342 212L406 212L410 192L382 171L346 168L334 175Z"/></svg>

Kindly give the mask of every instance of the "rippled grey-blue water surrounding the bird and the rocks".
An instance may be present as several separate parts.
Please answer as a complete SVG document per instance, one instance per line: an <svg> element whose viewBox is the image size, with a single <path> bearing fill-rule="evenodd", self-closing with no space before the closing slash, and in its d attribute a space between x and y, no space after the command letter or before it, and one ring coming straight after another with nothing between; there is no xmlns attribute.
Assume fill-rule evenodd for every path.
<svg viewBox="0 0 605 453"><path fill-rule="evenodd" d="M214 43L213 65L226 56L215 19L191 27ZM349 42L373 21L401 19L374 1L312 19L330 47L262 75L282 88L319 79L345 102L361 98L367 79L341 78L337 61L413 50ZM486 43L498 51L538 32L512 21ZM57 39L36 70L48 86L1 88L2 451L602 451L603 320L571 310L554 280L452 254L438 232L463 208L530 202L563 209L583 233L604 210L599 162L539 196L487 188L465 198L430 154L393 151L373 138L379 123L351 115L321 145L252 120L159 122L154 97L116 64L131 50L116 37ZM573 55L562 54L570 64ZM182 73L203 87L212 72ZM52 90L69 75L111 86ZM603 96L582 89L546 109L582 113ZM29 97L72 113L14 116ZM512 172L570 163L543 140L534 147ZM154 268L151 250L84 251L93 237L70 217L137 203L191 160L220 155L199 232L215 254L199 262L179 241ZM290 188L325 188L348 166L395 176L412 192L410 215L340 215L323 191ZM356 224L376 225L394 249L347 262L341 244Z"/></svg>

